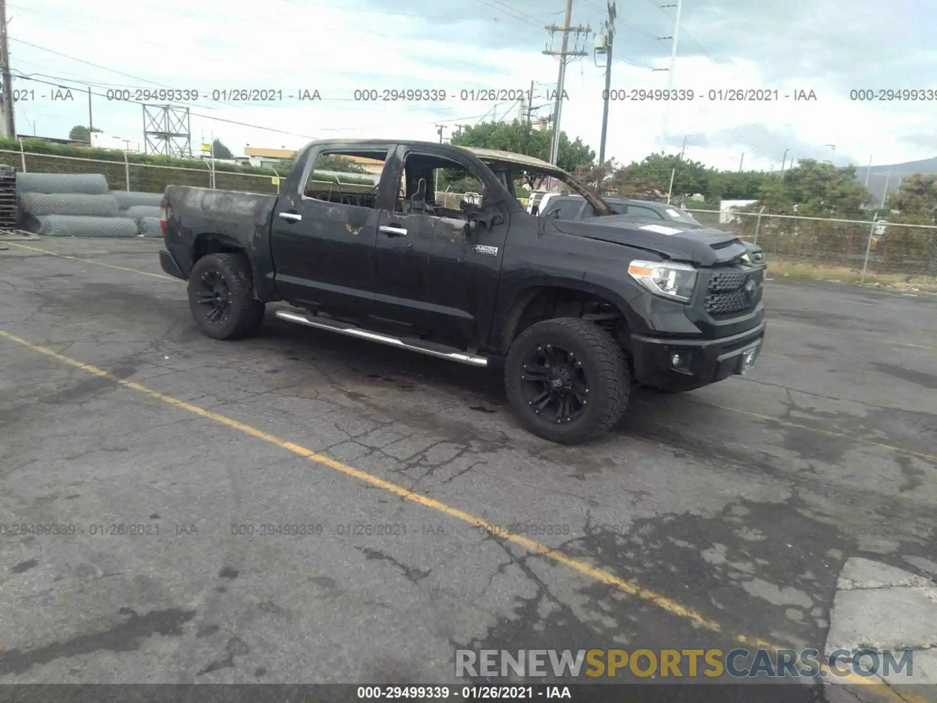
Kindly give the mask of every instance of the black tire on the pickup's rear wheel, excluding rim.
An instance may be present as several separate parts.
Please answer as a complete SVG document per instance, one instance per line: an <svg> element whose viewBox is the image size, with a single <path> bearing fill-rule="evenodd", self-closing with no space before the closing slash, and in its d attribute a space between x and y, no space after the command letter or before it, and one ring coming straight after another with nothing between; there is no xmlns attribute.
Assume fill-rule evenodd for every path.
<svg viewBox="0 0 937 703"><path fill-rule="evenodd" d="M205 275L216 275L228 290L227 313L217 321L206 316L206 307L199 302L201 281ZM208 254L192 267L188 277L188 307L206 337L242 339L260 329L264 304L254 297L250 262L244 254Z"/></svg>

